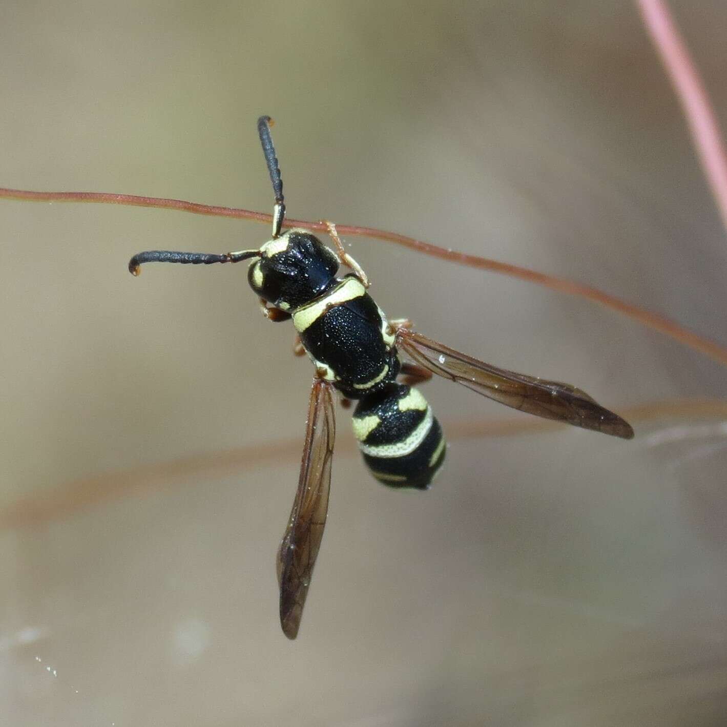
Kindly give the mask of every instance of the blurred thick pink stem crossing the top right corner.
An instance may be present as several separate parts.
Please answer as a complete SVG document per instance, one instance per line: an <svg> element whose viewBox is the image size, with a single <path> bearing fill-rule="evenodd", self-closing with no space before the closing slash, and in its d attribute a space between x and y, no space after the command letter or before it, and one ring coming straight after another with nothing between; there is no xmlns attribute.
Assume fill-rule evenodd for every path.
<svg viewBox="0 0 727 727"><path fill-rule="evenodd" d="M662 0L636 0L682 105L704 175L727 230L727 153L719 124L677 25Z"/></svg>

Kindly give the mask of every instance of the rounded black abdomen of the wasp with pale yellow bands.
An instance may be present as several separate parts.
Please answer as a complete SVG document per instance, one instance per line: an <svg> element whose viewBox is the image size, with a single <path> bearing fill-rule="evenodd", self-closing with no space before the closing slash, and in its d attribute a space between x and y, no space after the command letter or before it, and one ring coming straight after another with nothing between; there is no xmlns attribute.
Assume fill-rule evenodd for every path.
<svg viewBox="0 0 727 727"><path fill-rule="evenodd" d="M361 399L353 433L371 474L390 487L427 489L446 454L442 428L426 399L403 384Z"/></svg>

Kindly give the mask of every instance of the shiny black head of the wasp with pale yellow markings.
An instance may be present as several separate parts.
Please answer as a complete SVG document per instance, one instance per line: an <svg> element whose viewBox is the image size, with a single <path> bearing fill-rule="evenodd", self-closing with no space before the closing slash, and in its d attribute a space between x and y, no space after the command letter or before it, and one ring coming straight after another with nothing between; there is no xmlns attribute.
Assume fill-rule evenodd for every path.
<svg viewBox="0 0 727 727"><path fill-rule="evenodd" d="M306 230L288 230L266 242L247 279L261 298L281 310L295 310L336 281L337 257Z"/></svg>

